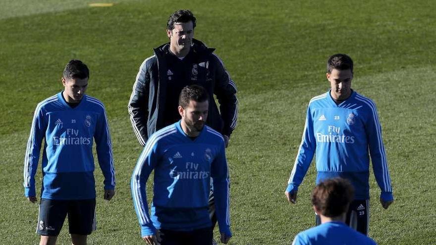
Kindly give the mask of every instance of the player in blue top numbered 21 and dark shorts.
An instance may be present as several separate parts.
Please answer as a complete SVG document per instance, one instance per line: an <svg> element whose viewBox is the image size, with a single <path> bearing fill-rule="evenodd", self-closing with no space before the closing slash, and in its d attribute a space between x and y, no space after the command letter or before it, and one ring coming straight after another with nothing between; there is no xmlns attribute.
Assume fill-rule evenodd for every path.
<svg viewBox="0 0 436 245"><path fill-rule="evenodd" d="M24 195L35 203L35 173L44 139L43 182L37 233L40 245L55 244L68 214L74 245L85 245L96 229L93 138L102 169L105 194L115 195L115 170L108 119L103 103L85 95L89 69L80 60L65 66L65 90L40 102L33 117L24 158Z"/></svg>

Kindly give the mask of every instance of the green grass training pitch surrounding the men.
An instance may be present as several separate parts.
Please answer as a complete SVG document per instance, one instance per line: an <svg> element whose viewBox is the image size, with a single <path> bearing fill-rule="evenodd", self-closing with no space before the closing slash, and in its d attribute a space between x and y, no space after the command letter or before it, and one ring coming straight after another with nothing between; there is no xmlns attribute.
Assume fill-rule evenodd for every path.
<svg viewBox="0 0 436 245"><path fill-rule="evenodd" d="M91 69L87 93L107 107L116 196L102 196L90 244L143 244L130 195L141 151L127 102L144 58L167 42L167 17L189 8L195 37L224 60L239 92L239 121L227 158L232 245L286 245L314 225L312 165L296 205L284 197L305 110L327 91L325 62L348 53L352 88L378 105L395 202L383 210L370 177L370 236L380 245L436 244L436 3L428 0L2 0L0 6L0 239L38 244L37 205L23 196L23 159L36 104L61 90L68 60ZM340 2L340 3L339 3ZM41 170L37 173L41 184ZM150 187L150 186L149 186ZM40 188L37 188L39 193ZM66 224L66 223L65 223ZM68 229L58 238L69 244Z"/></svg>

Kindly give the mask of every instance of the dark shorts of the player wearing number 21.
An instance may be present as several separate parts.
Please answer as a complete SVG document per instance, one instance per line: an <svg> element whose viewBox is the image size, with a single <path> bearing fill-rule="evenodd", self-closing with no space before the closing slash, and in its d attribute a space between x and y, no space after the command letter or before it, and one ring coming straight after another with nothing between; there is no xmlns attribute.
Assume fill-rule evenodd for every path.
<svg viewBox="0 0 436 245"><path fill-rule="evenodd" d="M97 228L96 199L52 200L41 198L36 233L57 236L68 214L70 234L89 235Z"/></svg>

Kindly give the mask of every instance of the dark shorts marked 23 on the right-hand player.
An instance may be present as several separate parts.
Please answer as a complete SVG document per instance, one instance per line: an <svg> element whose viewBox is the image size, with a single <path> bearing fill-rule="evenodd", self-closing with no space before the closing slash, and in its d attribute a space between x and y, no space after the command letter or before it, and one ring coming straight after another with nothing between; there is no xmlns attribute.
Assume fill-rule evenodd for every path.
<svg viewBox="0 0 436 245"><path fill-rule="evenodd" d="M320 216L316 215L317 225L321 224ZM368 236L368 228L370 223L370 201L353 200L347 211L345 223L354 230Z"/></svg>

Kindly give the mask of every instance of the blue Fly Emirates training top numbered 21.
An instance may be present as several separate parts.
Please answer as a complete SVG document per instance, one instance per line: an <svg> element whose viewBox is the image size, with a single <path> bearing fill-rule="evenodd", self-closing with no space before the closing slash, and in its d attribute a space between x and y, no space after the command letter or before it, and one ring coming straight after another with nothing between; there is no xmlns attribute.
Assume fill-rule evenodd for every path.
<svg viewBox="0 0 436 245"><path fill-rule="evenodd" d="M84 95L80 103L71 108L60 92L37 105L24 158L25 196L36 196L35 173L43 139L42 198L96 197L94 140L105 177L104 188L115 188L108 119L100 100Z"/></svg>

